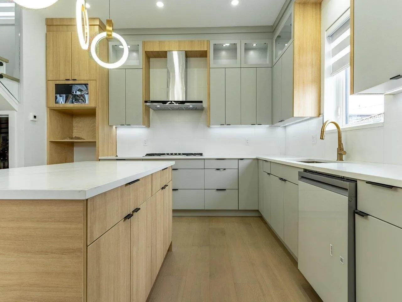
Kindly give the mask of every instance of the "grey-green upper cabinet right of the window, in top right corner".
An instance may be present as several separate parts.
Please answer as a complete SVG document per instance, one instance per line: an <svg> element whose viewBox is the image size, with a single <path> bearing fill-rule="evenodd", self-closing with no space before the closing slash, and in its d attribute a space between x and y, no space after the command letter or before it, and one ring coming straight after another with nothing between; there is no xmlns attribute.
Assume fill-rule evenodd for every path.
<svg viewBox="0 0 402 302"><path fill-rule="evenodd" d="M402 87L401 11L400 0L351 0L352 94L392 94Z"/></svg>

